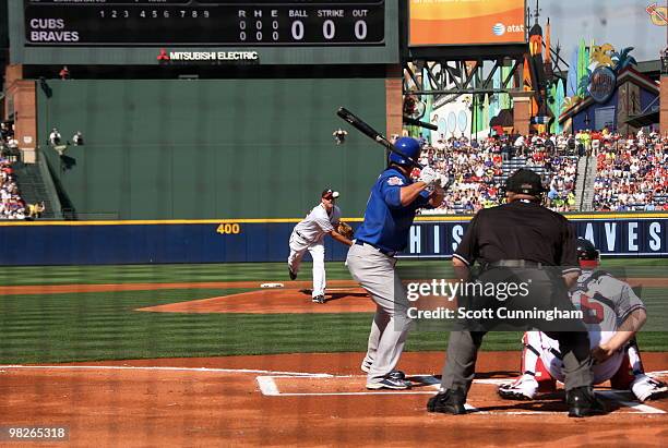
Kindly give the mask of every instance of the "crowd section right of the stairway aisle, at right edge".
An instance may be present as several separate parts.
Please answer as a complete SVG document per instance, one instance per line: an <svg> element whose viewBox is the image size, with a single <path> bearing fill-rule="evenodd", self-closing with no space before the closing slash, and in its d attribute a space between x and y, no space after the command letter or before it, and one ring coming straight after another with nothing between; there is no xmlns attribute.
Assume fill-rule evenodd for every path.
<svg viewBox="0 0 668 448"><path fill-rule="evenodd" d="M603 138L594 153L594 209L668 210L668 138L642 130L627 138Z"/></svg>

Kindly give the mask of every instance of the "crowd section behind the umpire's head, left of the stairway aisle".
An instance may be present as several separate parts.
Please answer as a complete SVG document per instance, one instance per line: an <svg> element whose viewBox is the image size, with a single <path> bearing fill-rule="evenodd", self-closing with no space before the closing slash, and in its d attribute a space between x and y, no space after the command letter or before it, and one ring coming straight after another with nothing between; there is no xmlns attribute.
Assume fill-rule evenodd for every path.
<svg viewBox="0 0 668 448"><path fill-rule="evenodd" d="M505 177L520 167L542 175L549 186L548 207L568 211L575 206L575 142L569 147L568 138L561 136L506 135L479 142L466 136L451 137L426 144L421 158L422 165L453 180L443 205L431 211L434 214L473 214L499 205L504 197Z"/></svg>

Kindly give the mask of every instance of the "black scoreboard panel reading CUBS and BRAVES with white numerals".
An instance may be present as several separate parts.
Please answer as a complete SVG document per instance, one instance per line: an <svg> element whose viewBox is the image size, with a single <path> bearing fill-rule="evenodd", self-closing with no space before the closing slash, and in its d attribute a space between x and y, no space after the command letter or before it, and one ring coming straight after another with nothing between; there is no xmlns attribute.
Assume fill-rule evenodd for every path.
<svg viewBox="0 0 668 448"><path fill-rule="evenodd" d="M383 45L385 1L24 0L26 46Z"/></svg>

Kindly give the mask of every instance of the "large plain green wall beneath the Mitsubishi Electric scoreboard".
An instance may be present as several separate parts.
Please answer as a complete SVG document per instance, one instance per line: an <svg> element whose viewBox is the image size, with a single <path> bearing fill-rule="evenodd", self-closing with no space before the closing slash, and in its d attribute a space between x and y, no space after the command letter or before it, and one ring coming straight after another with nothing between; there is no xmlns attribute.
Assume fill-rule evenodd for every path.
<svg viewBox="0 0 668 448"><path fill-rule="evenodd" d="M325 186L361 216L384 166L345 106L385 129L383 78L49 80L40 148L77 219L295 218ZM332 133L348 131L344 145ZM47 146L58 128L84 146Z"/></svg>

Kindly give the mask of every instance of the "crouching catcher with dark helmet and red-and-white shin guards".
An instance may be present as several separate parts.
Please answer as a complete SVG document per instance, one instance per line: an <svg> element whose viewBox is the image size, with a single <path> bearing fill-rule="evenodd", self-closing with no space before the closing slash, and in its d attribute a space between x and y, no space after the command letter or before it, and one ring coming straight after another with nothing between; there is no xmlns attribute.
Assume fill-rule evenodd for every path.
<svg viewBox="0 0 668 448"><path fill-rule="evenodd" d="M645 305L629 283L598 269L599 252L584 238L577 239L577 259L582 275L570 296L586 312L594 384L610 380L613 389L630 389L639 401L665 397L668 386L645 374L635 341L635 332L646 320ZM533 400L538 392L554 391L557 380L564 377L558 341L540 331L527 331L522 342L522 375L498 389L508 400Z"/></svg>

